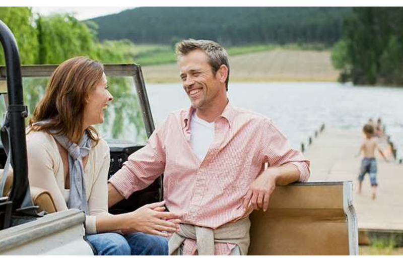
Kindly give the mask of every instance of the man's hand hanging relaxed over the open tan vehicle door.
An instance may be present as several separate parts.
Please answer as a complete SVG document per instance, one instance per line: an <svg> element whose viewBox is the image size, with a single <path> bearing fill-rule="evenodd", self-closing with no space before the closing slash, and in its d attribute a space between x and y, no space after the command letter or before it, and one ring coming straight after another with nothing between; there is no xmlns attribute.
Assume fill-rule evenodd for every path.
<svg viewBox="0 0 403 262"><path fill-rule="evenodd" d="M266 212L270 196L276 188L277 169L267 169L249 186L249 190L243 198L243 210L249 206L253 210L263 209Z"/></svg>

